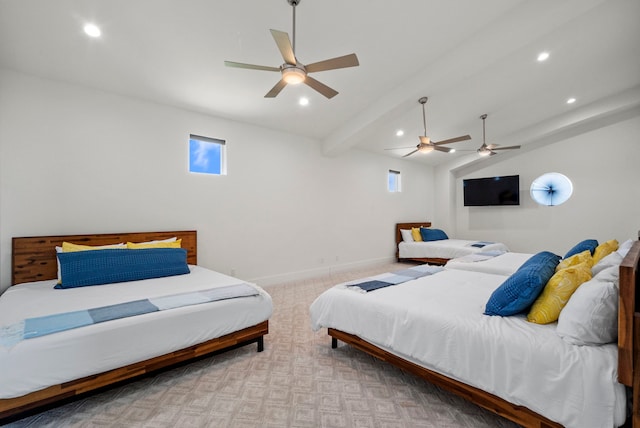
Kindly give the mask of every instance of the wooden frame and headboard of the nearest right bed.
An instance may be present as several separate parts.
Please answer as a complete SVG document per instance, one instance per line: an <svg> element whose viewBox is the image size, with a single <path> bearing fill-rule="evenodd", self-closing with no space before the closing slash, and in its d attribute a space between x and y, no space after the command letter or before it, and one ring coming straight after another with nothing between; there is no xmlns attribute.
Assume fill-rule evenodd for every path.
<svg viewBox="0 0 640 428"><path fill-rule="evenodd" d="M415 224L415 223L402 223ZM415 226L414 226L415 227ZM399 230L399 229L398 229ZM632 394L631 414L625 426L640 428L640 241L633 247L620 265L620 305L618 312L618 382L629 387ZM481 389L450 379L413 362L398 357L358 336L335 329L328 329L331 346L336 348L338 340L353 346L373 357L386 361L402 370L417 375L426 381L465 398L487 410L525 427L561 427L526 407L514 405Z"/></svg>

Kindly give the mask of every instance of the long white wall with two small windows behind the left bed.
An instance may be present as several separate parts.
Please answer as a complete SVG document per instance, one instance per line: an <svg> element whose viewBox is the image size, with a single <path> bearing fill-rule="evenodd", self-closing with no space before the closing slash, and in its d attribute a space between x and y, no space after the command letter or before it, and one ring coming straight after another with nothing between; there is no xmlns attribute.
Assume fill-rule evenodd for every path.
<svg viewBox="0 0 640 428"><path fill-rule="evenodd" d="M187 172L189 134L227 141L227 176ZM262 285L390 260L432 189L417 163L0 70L0 290L13 236L197 229L199 264Z"/></svg>

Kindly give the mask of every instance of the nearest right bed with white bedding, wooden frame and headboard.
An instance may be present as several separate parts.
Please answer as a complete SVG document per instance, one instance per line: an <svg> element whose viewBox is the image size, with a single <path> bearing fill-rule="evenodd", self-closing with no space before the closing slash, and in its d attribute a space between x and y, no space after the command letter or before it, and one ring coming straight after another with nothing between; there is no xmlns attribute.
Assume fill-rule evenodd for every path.
<svg viewBox="0 0 640 428"><path fill-rule="evenodd" d="M342 341L522 426L612 427L626 415L637 428L639 263L635 241L613 267L617 343L577 346L556 334L556 324L483 315L507 276L435 266L428 268L440 271L407 282L394 281L396 272L336 285L311 305L311 327L327 328L333 348ZM397 285L360 289L385 281Z"/></svg>

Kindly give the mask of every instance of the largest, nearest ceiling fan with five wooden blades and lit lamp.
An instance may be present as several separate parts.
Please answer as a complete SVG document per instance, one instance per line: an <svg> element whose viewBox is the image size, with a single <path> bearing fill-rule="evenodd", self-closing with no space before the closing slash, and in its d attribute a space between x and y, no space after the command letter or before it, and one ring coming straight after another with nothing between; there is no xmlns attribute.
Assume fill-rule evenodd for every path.
<svg viewBox="0 0 640 428"><path fill-rule="evenodd" d="M328 87L324 83L321 83L309 76L309 73L315 73L318 71L335 70L338 68L355 67L360 65L356 54L344 55L337 58L331 58L324 61L314 62L313 64L304 65L295 55L296 48L296 6L300 3L300 0L287 0L293 7L293 44L289 40L289 35L283 31L270 30L273 39L276 41L276 45L280 50L280 54L284 59L284 64L280 67L269 67L263 65L243 64L239 62L225 61L224 64L227 67L248 68L251 70L262 71L279 71L282 73L282 78L276 85L271 88L269 92L264 96L265 98L276 97L282 89L288 84L295 85L298 83L305 83L307 86L320 92L327 98L333 98L338 95L338 91Z"/></svg>

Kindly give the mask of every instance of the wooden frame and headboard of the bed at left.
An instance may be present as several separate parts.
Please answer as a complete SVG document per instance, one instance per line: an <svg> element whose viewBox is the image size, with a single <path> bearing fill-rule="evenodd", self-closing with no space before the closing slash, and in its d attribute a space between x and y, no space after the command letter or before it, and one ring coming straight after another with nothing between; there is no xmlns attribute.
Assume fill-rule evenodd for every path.
<svg viewBox="0 0 640 428"><path fill-rule="evenodd" d="M63 241L83 245L108 245L120 242L145 242L171 237L182 239L182 248L187 250L187 262L197 264L197 232L137 232L98 235L61 235L13 238L12 240L12 285L31 281L55 279L57 260L55 247ZM258 352L264 349L264 335L269 333L269 321L236 331L206 342L180 349L149 360L125 367L87 376L81 379L54 385L21 397L0 399L0 424L36 411L61 400L76 397L89 391L113 385L124 380L143 376L156 370L193 360L216 351L257 343ZM6 367L3 369L7 369Z"/></svg>

